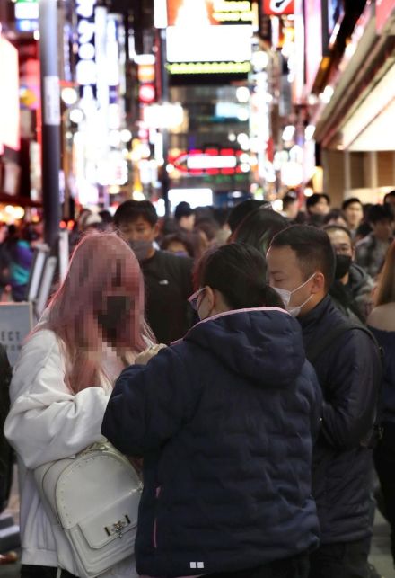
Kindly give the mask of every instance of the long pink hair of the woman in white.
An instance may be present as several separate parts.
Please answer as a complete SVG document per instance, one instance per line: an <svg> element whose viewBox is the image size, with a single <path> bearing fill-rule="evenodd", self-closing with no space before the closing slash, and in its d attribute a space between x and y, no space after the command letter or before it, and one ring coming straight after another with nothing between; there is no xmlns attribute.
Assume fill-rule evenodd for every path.
<svg viewBox="0 0 395 578"><path fill-rule="evenodd" d="M131 306L119 319L118 356L144 351L154 342L144 318L144 281L130 247L116 234L85 236L75 247L66 279L51 298L44 323L57 334L66 351L66 385L74 393L101 385L103 334L97 316L110 295L126 296Z"/></svg>

